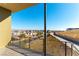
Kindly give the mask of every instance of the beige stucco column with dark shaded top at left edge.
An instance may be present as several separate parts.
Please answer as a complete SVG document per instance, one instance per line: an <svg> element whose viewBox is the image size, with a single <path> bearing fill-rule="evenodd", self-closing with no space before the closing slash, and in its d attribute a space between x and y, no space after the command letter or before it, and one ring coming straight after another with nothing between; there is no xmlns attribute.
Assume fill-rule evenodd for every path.
<svg viewBox="0 0 79 59"><path fill-rule="evenodd" d="M11 11L0 7L0 48L11 40Z"/></svg>

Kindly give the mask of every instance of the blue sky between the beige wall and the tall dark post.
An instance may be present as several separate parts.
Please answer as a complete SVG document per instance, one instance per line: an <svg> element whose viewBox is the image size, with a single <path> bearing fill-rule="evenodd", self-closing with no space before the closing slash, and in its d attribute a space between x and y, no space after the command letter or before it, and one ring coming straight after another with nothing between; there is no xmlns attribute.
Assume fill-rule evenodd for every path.
<svg viewBox="0 0 79 59"><path fill-rule="evenodd" d="M43 29L44 8L37 4L12 14L12 29Z"/></svg>

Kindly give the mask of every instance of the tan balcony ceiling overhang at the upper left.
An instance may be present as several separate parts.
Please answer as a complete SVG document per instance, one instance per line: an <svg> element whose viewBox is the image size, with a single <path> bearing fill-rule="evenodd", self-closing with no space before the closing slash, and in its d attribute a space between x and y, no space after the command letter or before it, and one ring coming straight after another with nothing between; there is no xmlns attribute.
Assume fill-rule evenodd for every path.
<svg viewBox="0 0 79 59"><path fill-rule="evenodd" d="M17 12L33 5L35 5L35 3L0 3L1 7L9 9L12 12Z"/></svg>

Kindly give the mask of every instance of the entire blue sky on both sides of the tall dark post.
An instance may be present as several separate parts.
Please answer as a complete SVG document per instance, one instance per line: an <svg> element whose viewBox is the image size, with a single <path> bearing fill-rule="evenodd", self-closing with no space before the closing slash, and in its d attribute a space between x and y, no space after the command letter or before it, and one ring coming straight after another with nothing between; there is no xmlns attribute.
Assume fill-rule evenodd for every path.
<svg viewBox="0 0 79 59"><path fill-rule="evenodd" d="M44 5L12 14L12 29L43 29ZM47 29L79 28L79 4L47 3Z"/></svg>

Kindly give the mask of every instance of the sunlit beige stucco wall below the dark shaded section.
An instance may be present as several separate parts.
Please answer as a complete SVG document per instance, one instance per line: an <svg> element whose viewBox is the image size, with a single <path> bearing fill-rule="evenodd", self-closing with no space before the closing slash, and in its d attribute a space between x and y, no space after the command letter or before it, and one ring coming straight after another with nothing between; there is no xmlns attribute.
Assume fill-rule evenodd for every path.
<svg viewBox="0 0 79 59"><path fill-rule="evenodd" d="M0 48L11 40L11 16L0 22Z"/></svg>

